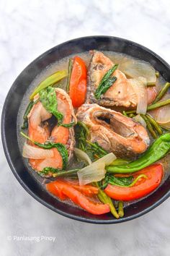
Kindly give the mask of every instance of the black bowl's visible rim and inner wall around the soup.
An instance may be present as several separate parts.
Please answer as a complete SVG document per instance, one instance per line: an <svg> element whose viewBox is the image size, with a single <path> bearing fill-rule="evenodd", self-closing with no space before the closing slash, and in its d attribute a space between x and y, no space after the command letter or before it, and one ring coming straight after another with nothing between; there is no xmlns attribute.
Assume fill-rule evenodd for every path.
<svg viewBox="0 0 170 256"><path fill-rule="evenodd" d="M35 61L32 61L32 63L28 65L21 74L19 74L17 80L14 81L4 103L1 116L1 137L6 159L14 173L14 176L16 176L19 183L22 184L22 187L24 187L32 197L35 197L37 201L41 202L51 210L54 210L56 213L60 213L63 216L73 218L78 221L86 221L89 223L119 223L142 216L144 213L148 213L148 211L156 208L156 206L160 205L161 202L164 202L164 200L166 200L170 195L170 178L166 179L166 181L148 197L126 207L124 218L117 220L113 218L111 214L94 216L79 208L66 205L64 202L60 202L53 196L49 195L40 183L36 182L35 177L27 171L27 166L19 152L19 145L16 143L17 114L19 106L24 93L32 80L34 80L42 69L48 67L49 64L63 59L63 57L70 54L79 54L91 49L97 49L99 51L117 51L134 56L138 59L143 59L144 61L150 62L151 65L161 73L165 80L170 80L169 64L161 59L161 57L154 54L153 51L150 51L148 48L140 46L137 43L111 36L89 36L69 40L66 43L61 43L61 45L55 46L49 51L46 51L45 54L42 54L35 59Z"/></svg>

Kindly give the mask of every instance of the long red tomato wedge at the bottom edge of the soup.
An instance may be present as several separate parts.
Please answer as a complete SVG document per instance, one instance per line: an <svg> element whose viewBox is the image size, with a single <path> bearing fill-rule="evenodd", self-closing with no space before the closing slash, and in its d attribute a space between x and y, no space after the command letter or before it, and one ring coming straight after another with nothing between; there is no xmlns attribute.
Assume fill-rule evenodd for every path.
<svg viewBox="0 0 170 256"><path fill-rule="evenodd" d="M53 182L52 182L53 183ZM47 189L49 189L49 185L47 185ZM56 188L56 195L61 195L59 192L61 192L66 197L70 198L76 205L79 205L81 208L86 210L89 213L100 215L104 213L109 213L109 205L102 204L99 202L94 202L92 200L89 200L88 197L83 195L81 192L79 192L77 189L73 188L70 184L67 184L63 181L55 181L55 187ZM51 190L48 190L49 192ZM54 195L54 194L53 194ZM60 197L61 198L61 197Z"/></svg>

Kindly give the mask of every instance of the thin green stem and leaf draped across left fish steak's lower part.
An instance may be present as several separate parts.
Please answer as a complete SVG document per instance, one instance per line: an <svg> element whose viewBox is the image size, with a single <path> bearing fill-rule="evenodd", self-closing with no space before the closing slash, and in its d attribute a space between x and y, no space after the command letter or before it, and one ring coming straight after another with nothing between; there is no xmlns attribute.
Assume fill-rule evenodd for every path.
<svg viewBox="0 0 170 256"><path fill-rule="evenodd" d="M61 154L61 157L63 159L63 169L66 168L68 163L68 151L66 149L66 145L63 145L62 143L54 143L54 142L45 142L44 144L36 142L34 140L31 140L30 137L25 135L23 132L20 132L22 136L24 136L27 140L30 140L32 143L37 145L40 148L44 149L51 149L51 148L57 148L58 152Z"/></svg>

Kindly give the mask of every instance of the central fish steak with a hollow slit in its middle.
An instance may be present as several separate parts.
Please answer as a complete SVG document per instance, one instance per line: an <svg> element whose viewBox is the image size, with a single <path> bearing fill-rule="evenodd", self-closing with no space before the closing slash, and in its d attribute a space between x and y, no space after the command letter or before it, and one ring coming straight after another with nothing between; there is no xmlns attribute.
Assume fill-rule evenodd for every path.
<svg viewBox="0 0 170 256"><path fill-rule="evenodd" d="M91 142L97 142L117 157L135 158L150 144L145 127L112 109L85 103L78 109L76 117L89 127ZM109 124L104 121L106 117Z"/></svg>

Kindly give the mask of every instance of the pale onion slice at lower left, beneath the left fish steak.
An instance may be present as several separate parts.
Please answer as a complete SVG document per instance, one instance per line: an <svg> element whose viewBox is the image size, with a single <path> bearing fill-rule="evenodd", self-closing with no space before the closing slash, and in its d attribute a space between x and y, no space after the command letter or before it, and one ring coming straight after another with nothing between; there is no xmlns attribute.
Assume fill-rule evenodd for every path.
<svg viewBox="0 0 170 256"><path fill-rule="evenodd" d="M28 145L27 142L24 142L24 147L22 151L22 156L24 158L44 159L44 158L53 158L53 155L54 155L53 150L35 148L31 145Z"/></svg>

